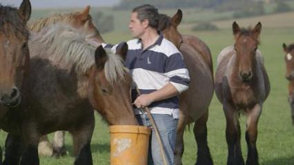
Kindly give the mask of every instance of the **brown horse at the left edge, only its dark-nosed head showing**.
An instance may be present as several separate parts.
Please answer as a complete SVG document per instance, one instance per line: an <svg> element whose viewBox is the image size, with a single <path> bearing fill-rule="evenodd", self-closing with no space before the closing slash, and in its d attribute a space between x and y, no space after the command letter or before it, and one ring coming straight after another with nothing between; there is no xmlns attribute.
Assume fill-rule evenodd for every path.
<svg viewBox="0 0 294 165"><path fill-rule="evenodd" d="M21 102L23 79L30 61L26 27L30 13L28 0L22 1L19 10L0 4L0 120ZM1 164L2 151L0 156Z"/></svg>

